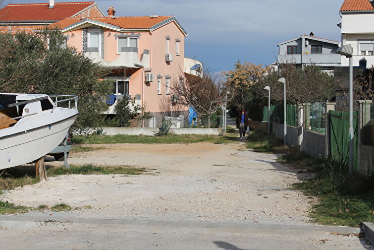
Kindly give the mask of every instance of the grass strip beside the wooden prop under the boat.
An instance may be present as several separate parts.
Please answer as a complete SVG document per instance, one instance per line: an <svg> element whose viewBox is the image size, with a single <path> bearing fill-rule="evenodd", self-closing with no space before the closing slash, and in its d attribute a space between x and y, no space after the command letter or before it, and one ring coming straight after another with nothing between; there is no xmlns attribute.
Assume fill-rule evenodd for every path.
<svg viewBox="0 0 374 250"><path fill-rule="evenodd" d="M141 175L147 169L133 168L128 166L95 166L85 164L82 166L70 165L70 169L62 167L52 167L47 170L47 176L59 175Z"/></svg>

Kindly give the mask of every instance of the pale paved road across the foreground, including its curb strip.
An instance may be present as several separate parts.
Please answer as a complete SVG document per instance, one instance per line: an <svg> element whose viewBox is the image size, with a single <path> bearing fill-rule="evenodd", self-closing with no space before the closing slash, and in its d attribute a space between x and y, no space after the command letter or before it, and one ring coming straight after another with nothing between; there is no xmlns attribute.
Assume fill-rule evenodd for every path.
<svg viewBox="0 0 374 250"><path fill-rule="evenodd" d="M0 216L0 244L36 249L359 250L365 241L349 227L211 223L169 220ZM334 233L334 234L331 234Z"/></svg>

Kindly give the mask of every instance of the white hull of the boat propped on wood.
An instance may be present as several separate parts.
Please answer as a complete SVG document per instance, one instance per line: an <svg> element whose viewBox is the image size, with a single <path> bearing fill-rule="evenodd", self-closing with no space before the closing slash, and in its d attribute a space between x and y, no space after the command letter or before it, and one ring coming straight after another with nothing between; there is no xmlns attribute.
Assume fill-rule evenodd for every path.
<svg viewBox="0 0 374 250"><path fill-rule="evenodd" d="M38 124L28 127L28 130L22 131L22 124L2 129L0 170L33 162L51 152L63 140L78 116L76 109L61 110L58 113L58 119L55 119L56 114L53 113L25 119L24 125ZM33 119L39 119L39 123ZM40 120L44 122L40 123Z"/></svg>

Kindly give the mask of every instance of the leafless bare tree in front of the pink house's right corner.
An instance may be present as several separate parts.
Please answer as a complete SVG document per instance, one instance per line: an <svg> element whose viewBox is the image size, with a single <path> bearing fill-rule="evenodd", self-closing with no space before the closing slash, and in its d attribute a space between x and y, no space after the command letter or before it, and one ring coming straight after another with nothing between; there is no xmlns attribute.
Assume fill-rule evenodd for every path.
<svg viewBox="0 0 374 250"><path fill-rule="evenodd" d="M199 116L208 116L208 127L211 126L211 115L225 102L226 91L230 91L220 74L204 68L199 75L180 73L170 86L171 93L178 96L178 104L192 106ZM228 101L232 98L230 91Z"/></svg>

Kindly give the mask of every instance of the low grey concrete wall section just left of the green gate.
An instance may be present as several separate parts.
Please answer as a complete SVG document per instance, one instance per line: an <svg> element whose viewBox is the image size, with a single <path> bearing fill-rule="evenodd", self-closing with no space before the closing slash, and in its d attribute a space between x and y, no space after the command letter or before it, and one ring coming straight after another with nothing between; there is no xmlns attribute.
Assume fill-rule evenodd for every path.
<svg viewBox="0 0 374 250"><path fill-rule="evenodd" d="M308 155L316 158L326 157L325 135L304 129L301 149Z"/></svg>

